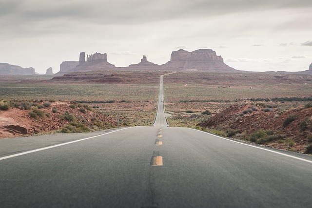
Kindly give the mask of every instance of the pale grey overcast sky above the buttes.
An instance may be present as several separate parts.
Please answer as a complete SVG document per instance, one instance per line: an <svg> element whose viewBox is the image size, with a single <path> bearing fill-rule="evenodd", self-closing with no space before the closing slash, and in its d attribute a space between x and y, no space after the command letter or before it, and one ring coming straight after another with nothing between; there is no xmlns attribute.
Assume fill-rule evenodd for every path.
<svg viewBox="0 0 312 208"><path fill-rule="evenodd" d="M80 52L128 66L181 48L238 70L308 70L312 0L0 0L0 62L37 73Z"/></svg>

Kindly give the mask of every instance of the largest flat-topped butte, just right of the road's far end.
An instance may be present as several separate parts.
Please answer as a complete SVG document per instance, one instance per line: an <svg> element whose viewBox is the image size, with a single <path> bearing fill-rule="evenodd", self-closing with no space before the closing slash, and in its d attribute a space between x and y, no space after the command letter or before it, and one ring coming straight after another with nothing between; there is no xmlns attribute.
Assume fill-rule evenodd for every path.
<svg viewBox="0 0 312 208"><path fill-rule="evenodd" d="M199 72L235 72L223 62L221 56L217 56L211 49L199 49L188 52L183 49L174 51L170 61L162 65L164 69L175 71L199 71Z"/></svg>

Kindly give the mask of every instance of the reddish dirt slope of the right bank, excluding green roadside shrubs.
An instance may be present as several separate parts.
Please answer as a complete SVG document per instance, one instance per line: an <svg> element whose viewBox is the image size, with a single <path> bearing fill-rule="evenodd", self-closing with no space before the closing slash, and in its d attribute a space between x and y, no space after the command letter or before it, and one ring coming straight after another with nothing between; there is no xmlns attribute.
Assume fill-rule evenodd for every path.
<svg viewBox="0 0 312 208"><path fill-rule="evenodd" d="M255 111L251 111L252 108ZM294 120L285 125L284 121L290 116L293 116ZM272 106L266 108L259 105L236 105L225 109L206 122L198 124L198 126L223 131L241 130L240 135L245 136L249 136L260 129L273 130L275 134L283 135L284 139L282 140L291 139L294 143L290 146L289 143L280 140L267 142L266 145L304 152L306 147L310 145L309 138L312 136L312 108L280 109Z"/></svg>

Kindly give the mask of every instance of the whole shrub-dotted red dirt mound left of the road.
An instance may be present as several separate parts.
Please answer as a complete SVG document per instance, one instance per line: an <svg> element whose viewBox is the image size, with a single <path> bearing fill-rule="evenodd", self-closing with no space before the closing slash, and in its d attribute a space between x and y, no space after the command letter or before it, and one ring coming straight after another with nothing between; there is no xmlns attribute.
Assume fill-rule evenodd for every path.
<svg viewBox="0 0 312 208"><path fill-rule="evenodd" d="M6 102L2 100L0 104L4 106ZM53 131L91 132L114 125L111 118L90 107L69 102L25 101L17 107L0 110L0 138Z"/></svg>

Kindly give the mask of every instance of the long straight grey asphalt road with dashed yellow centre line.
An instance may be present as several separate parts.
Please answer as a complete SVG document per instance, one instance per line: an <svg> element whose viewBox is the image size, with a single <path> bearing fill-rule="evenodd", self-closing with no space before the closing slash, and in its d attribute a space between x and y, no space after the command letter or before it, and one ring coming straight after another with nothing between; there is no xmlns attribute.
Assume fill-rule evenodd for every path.
<svg viewBox="0 0 312 208"><path fill-rule="evenodd" d="M309 155L157 116L153 127L1 139L0 207L311 207Z"/></svg>

